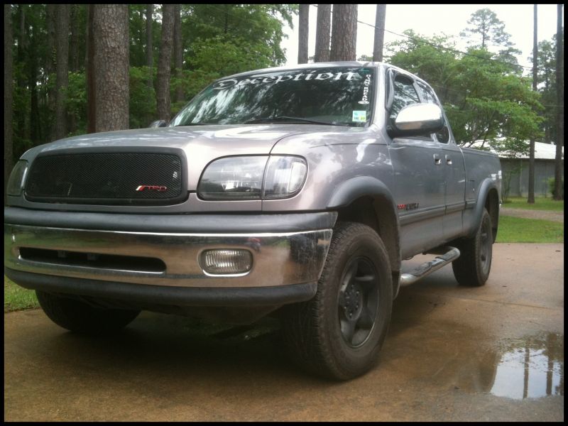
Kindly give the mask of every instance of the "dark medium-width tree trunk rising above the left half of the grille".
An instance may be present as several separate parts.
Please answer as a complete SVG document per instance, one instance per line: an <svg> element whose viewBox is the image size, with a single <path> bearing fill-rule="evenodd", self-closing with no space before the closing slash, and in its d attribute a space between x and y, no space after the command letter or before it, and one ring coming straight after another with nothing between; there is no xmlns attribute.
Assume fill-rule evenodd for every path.
<svg viewBox="0 0 568 426"><path fill-rule="evenodd" d="M67 136L65 98L69 85L69 5L55 6L55 39L57 41L57 81L55 82L55 138Z"/></svg>

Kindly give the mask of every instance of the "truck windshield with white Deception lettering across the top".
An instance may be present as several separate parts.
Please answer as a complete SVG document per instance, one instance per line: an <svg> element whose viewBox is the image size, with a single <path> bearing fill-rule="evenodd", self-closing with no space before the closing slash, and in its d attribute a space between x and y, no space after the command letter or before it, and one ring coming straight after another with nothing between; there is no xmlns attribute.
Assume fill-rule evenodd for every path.
<svg viewBox="0 0 568 426"><path fill-rule="evenodd" d="M302 68L218 80L173 119L173 126L290 122L365 126L375 70Z"/></svg>

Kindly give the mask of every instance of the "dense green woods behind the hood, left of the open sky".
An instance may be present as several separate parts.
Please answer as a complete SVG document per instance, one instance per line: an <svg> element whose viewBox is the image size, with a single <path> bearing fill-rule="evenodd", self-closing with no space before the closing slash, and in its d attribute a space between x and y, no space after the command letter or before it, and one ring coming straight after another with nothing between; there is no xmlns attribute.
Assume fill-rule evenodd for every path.
<svg viewBox="0 0 568 426"><path fill-rule="evenodd" d="M165 6L171 6L166 13L173 17L165 38L162 6L127 7L129 105L123 112L130 129L169 118L158 116L157 105L164 96L158 87L164 50L170 50L170 117L219 77L285 62L283 23L291 24L297 5ZM18 158L40 143L88 131L89 5L14 4L6 9L13 58L13 158ZM109 78L101 67L93 72Z"/></svg>

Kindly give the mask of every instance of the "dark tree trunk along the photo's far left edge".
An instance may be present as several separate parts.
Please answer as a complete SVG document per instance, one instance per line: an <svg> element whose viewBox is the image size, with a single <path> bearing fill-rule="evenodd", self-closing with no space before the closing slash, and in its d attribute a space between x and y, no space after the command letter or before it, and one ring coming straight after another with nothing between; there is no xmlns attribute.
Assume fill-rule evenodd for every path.
<svg viewBox="0 0 568 426"><path fill-rule="evenodd" d="M4 204L6 185L13 167L12 146L12 7L4 4Z"/></svg>

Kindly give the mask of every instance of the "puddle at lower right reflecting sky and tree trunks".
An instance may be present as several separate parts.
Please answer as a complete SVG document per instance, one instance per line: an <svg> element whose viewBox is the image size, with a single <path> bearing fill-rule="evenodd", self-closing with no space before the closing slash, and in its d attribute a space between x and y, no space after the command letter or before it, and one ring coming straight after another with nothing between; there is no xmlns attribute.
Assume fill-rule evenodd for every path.
<svg viewBox="0 0 568 426"><path fill-rule="evenodd" d="M491 393L513 399L564 395L564 336L512 342L497 364Z"/></svg>

